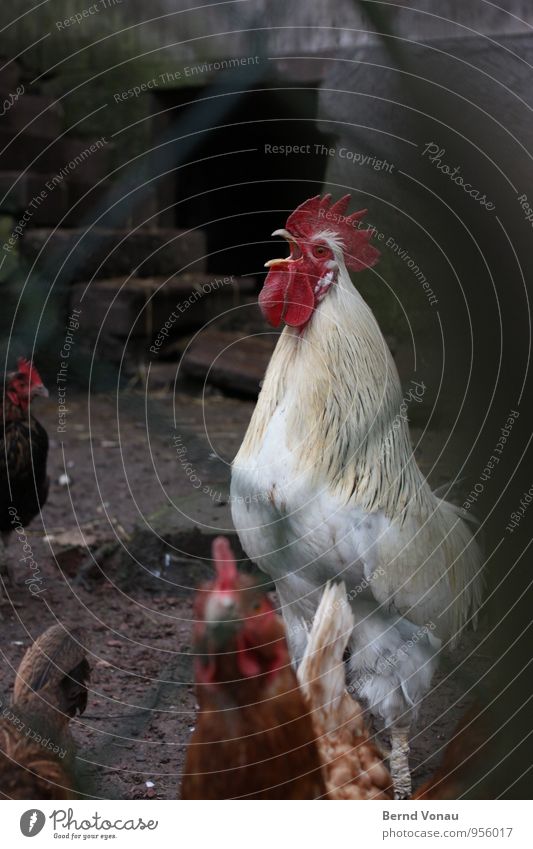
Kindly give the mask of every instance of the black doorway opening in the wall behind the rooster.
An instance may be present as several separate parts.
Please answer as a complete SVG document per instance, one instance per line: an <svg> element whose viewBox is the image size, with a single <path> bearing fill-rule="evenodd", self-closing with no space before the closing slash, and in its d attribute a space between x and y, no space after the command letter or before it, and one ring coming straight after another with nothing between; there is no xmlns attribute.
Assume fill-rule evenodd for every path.
<svg viewBox="0 0 533 849"><path fill-rule="evenodd" d="M158 119L168 127L177 111L190 108L203 89L156 95ZM273 230L287 213L320 192L327 156L315 145L331 138L316 127L318 85L262 87L228 95L224 126L209 123L209 103L198 125L197 144L184 167L161 186L160 208L169 205L165 226L201 227L208 244L208 268L236 275L260 274L272 256ZM298 147L287 154L288 148ZM235 151L242 151L236 153Z"/></svg>

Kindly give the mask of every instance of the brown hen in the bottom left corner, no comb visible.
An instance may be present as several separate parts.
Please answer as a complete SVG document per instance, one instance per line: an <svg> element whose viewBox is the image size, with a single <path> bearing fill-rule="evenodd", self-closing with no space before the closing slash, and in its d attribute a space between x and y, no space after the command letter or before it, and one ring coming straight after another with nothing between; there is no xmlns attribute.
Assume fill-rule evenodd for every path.
<svg viewBox="0 0 533 849"><path fill-rule="evenodd" d="M68 726L85 710L89 675L80 630L54 625L28 649L0 721L0 798L76 796Z"/></svg>

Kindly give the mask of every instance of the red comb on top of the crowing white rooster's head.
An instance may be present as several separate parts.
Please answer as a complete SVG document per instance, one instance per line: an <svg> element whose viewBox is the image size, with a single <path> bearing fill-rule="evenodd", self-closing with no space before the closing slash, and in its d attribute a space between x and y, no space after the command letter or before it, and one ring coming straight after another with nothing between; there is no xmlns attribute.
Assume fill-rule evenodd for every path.
<svg viewBox="0 0 533 849"><path fill-rule="evenodd" d="M330 194L309 198L289 215L286 228L292 236L301 239L310 239L321 230L331 230L342 242L347 268L362 271L376 264L379 251L370 244L374 231L359 227L367 210L345 215L350 200L351 195L344 195L334 204Z"/></svg>

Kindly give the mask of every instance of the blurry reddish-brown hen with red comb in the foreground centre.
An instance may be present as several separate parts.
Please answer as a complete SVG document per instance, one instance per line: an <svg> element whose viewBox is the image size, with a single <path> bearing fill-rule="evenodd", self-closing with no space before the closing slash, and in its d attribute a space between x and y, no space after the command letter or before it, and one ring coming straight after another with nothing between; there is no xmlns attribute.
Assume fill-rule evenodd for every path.
<svg viewBox="0 0 533 849"><path fill-rule="evenodd" d="M239 574L226 539L216 579L198 592L199 703L183 799L318 799L326 787L285 631L267 594Z"/></svg>

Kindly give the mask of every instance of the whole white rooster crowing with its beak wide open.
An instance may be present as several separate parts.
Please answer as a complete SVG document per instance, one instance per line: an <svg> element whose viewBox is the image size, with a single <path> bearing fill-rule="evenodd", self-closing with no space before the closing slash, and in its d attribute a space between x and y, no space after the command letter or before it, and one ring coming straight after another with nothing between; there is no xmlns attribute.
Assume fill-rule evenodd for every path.
<svg viewBox="0 0 533 849"><path fill-rule="evenodd" d="M311 198L288 218L290 256L259 297L285 328L233 463L233 520L275 581L293 659L327 581L344 581L355 627L348 689L391 730L398 797L410 795L409 729L443 642L481 601L481 554L460 510L418 468L392 356L347 268L379 252L350 196Z"/></svg>

